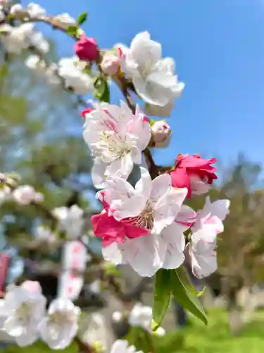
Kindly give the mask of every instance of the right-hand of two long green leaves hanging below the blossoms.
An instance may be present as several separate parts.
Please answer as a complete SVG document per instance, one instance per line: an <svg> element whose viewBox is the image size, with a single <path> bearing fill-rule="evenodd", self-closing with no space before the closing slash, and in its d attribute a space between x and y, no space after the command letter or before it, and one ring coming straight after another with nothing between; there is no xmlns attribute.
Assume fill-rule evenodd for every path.
<svg viewBox="0 0 264 353"><path fill-rule="evenodd" d="M177 268L177 270L171 270L170 276L171 290L175 301L207 325L206 313L184 268L181 266Z"/></svg>

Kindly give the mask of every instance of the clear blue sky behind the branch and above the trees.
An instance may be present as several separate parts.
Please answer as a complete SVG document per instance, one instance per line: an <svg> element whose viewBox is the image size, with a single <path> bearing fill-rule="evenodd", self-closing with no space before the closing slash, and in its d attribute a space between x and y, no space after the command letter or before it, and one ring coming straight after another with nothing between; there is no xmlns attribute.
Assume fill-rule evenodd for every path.
<svg viewBox="0 0 264 353"><path fill-rule="evenodd" d="M264 0L38 2L50 14L88 11L84 30L100 47L130 44L148 30L163 55L175 58L186 88L168 119L172 145L157 153L158 162L200 152L227 163L239 151L264 161ZM61 55L73 55L71 40L52 36ZM119 97L113 90L113 102Z"/></svg>

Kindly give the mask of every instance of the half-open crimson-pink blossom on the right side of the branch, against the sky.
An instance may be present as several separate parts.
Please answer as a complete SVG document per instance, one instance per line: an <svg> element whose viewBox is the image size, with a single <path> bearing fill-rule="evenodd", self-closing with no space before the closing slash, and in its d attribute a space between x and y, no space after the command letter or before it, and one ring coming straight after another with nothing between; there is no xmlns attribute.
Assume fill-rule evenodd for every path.
<svg viewBox="0 0 264 353"><path fill-rule="evenodd" d="M211 165L215 162L215 158L203 160L199 155L179 155L175 160L175 168L170 172L172 186L187 188L188 198L192 193L207 193L213 180L218 179L216 168Z"/></svg>

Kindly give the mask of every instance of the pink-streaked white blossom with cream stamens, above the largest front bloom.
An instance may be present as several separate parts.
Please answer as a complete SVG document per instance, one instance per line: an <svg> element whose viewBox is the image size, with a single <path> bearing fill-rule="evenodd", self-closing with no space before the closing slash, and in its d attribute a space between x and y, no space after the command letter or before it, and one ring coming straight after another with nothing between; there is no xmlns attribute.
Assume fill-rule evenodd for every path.
<svg viewBox="0 0 264 353"><path fill-rule="evenodd" d="M134 163L142 162L142 150L148 145L151 132L139 107L133 114L127 104L120 102L120 107L99 104L87 114L83 136L95 157L92 180L100 189L106 177L118 175L127 179Z"/></svg>

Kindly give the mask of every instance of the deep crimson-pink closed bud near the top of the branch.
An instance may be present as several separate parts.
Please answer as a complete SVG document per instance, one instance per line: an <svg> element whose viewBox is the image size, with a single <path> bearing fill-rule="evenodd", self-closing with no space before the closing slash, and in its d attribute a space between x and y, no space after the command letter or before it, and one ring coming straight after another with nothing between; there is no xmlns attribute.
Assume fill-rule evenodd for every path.
<svg viewBox="0 0 264 353"><path fill-rule="evenodd" d="M81 35L80 40L74 45L74 49L80 60L94 61L99 56L99 48L95 38L89 38L86 35Z"/></svg>

